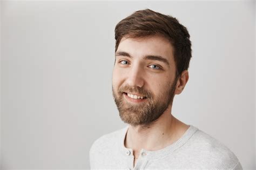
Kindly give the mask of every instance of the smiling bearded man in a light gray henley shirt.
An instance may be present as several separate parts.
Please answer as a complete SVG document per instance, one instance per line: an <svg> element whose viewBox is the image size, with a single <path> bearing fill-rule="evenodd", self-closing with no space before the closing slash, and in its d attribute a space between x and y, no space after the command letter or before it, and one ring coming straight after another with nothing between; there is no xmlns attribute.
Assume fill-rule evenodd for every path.
<svg viewBox="0 0 256 170"><path fill-rule="evenodd" d="M188 81L191 42L176 18L140 10L116 25L112 91L129 126L96 140L92 169L242 169L226 146L171 114Z"/></svg>

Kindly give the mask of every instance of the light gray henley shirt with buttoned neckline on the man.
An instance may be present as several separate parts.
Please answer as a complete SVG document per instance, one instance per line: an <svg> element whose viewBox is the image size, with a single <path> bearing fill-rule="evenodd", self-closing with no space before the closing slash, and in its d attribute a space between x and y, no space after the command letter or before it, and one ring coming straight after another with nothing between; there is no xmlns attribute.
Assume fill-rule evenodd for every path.
<svg viewBox="0 0 256 170"><path fill-rule="evenodd" d="M93 143L91 169L242 169L230 149L192 125L172 145L158 151L142 149L133 167L132 149L124 146L128 127Z"/></svg>

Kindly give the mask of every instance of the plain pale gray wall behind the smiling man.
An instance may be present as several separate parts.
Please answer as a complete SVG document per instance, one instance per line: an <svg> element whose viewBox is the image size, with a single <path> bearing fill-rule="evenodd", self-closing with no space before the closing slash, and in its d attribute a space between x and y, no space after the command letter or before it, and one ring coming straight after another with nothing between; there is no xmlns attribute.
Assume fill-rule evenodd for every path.
<svg viewBox="0 0 256 170"><path fill-rule="evenodd" d="M193 58L173 115L255 169L255 4L1 1L1 169L87 169L92 142L126 126L112 99L114 26L177 17Z"/></svg>

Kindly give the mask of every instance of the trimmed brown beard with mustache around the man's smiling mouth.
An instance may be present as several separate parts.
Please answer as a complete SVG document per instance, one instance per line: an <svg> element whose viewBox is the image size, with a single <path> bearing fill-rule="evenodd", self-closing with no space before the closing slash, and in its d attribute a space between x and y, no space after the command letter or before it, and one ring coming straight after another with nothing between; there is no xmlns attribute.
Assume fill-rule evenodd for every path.
<svg viewBox="0 0 256 170"><path fill-rule="evenodd" d="M120 118L124 123L132 126L143 125L149 126L153 124L168 108L172 105L174 91L176 89L177 77L171 86L166 85L164 91L159 96L153 96L151 91L146 91L138 86L121 86L117 91L113 89L112 93L114 101L117 105ZM145 101L138 104L129 103L124 98L126 93L138 93L139 96L146 96Z"/></svg>

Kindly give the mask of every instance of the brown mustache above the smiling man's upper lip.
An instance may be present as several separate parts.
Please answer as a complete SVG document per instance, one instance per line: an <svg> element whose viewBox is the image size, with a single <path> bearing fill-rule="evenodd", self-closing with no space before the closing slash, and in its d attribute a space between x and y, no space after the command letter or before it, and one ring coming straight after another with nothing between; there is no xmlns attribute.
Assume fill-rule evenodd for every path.
<svg viewBox="0 0 256 170"><path fill-rule="evenodd" d="M138 93L139 96L144 96L147 98L150 98L152 95L152 93L150 91L147 91L145 89L143 89L142 87L138 87L138 86L129 86L129 85L125 85L123 87L120 87L119 89L120 93Z"/></svg>

